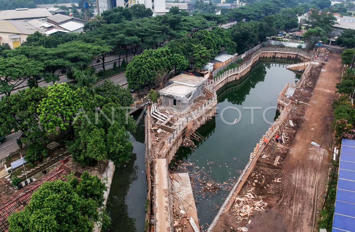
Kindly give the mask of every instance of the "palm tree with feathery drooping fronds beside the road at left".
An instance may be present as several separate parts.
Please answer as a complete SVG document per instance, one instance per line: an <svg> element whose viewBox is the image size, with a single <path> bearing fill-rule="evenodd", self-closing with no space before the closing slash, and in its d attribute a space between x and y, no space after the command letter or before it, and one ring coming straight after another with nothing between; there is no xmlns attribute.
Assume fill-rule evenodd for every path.
<svg viewBox="0 0 355 232"><path fill-rule="evenodd" d="M95 94L96 87L94 86L101 78L95 74L94 67L86 67L85 69L71 68L71 75L75 80L75 84L70 84L74 89L87 87L90 94Z"/></svg>

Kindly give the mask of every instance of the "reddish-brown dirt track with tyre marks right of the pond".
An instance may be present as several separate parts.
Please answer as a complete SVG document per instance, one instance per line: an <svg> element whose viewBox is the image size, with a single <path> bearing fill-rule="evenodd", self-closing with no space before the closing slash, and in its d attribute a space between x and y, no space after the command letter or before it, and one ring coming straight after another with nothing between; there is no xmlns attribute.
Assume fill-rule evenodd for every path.
<svg viewBox="0 0 355 232"><path fill-rule="evenodd" d="M341 70L340 54L329 54L329 62L323 67L313 94L309 96L311 100L304 117L297 123L300 128L289 144L289 152L282 155L282 165L277 167L277 177L282 178L281 183L265 187L265 190L272 191L264 199L269 204L266 212L255 212L249 217L250 224L238 224L233 215L225 214L213 231L229 231L228 228L240 226L247 227L249 232L315 231L317 211L323 204L322 196L318 200L317 196L326 190L331 154L311 146L310 143L315 141L328 148L332 145L334 129L331 126L331 103L337 98L335 83L340 81ZM272 169L272 164L269 169L264 165L262 174L267 175L266 172L274 171Z"/></svg>

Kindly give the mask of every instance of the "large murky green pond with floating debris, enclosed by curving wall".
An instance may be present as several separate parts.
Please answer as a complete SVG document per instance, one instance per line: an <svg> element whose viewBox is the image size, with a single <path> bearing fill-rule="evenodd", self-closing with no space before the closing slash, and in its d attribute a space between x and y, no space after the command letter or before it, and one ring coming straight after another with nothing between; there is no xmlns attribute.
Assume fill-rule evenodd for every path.
<svg viewBox="0 0 355 232"><path fill-rule="evenodd" d="M224 85L217 91L216 117L197 132L207 140L197 142L197 148L180 147L171 163L181 162L179 172L189 172L205 181L220 183L217 193L204 193L200 183L193 185L200 225L212 222L230 188L240 175L262 135L268 130L276 112L277 97L287 82L299 80L300 75L287 70L287 60L263 60L246 77ZM249 108L248 108L249 107ZM250 107L253 107L253 117ZM264 117L263 117L264 115ZM234 123L235 125L228 125ZM269 123L268 123L269 122ZM197 179L192 182L196 182ZM223 184L224 182L224 184ZM201 193L200 193L201 191Z"/></svg>

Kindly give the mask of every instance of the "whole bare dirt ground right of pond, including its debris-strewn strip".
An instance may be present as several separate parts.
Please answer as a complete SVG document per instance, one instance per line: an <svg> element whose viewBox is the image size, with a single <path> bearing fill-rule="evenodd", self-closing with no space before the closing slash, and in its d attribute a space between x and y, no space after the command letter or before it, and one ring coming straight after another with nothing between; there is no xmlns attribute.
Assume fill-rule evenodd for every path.
<svg viewBox="0 0 355 232"><path fill-rule="evenodd" d="M253 193L268 203L266 211L255 211L249 216L250 224L247 220L238 223L231 212L232 206L228 213L220 216L213 231L227 232L243 226L249 232L316 231L317 212L324 201L322 195L326 191L331 154L311 146L310 142L328 148L332 146L331 103L337 98L335 83L340 81L341 70L340 54L335 53L329 54L329 62L323 67L312 70L300 95L300 101L304 103L299 103L290 113L289 119L294 127L287 124L281 128L280 132L288 138L282 146L274 145L273 158L272 143L269 142L243 186L239 196L244 196L246 189L256 188ZM316 76L319 76L318 81ZM277 155L280 160L274 166ZM278 178L281 178L280 182L275 182ZM258 180L256 185L253 184L255 180Z"/></svg>

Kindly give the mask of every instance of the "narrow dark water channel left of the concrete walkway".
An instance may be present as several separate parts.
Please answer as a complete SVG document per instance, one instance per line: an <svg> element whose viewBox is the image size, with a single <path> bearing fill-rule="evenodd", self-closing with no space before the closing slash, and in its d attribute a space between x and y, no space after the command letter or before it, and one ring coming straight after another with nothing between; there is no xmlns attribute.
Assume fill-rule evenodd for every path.
<svg viewBox="0 0 355 232"><path fill-rule="evenodd" d="M137 120L139 115L135 116ZM130 140L133 143L131 160L116 166L107 202L111 217L105 232L144 231L147 198L146 171L144 168L144 118L138 122L136 133Z"/></svg>

